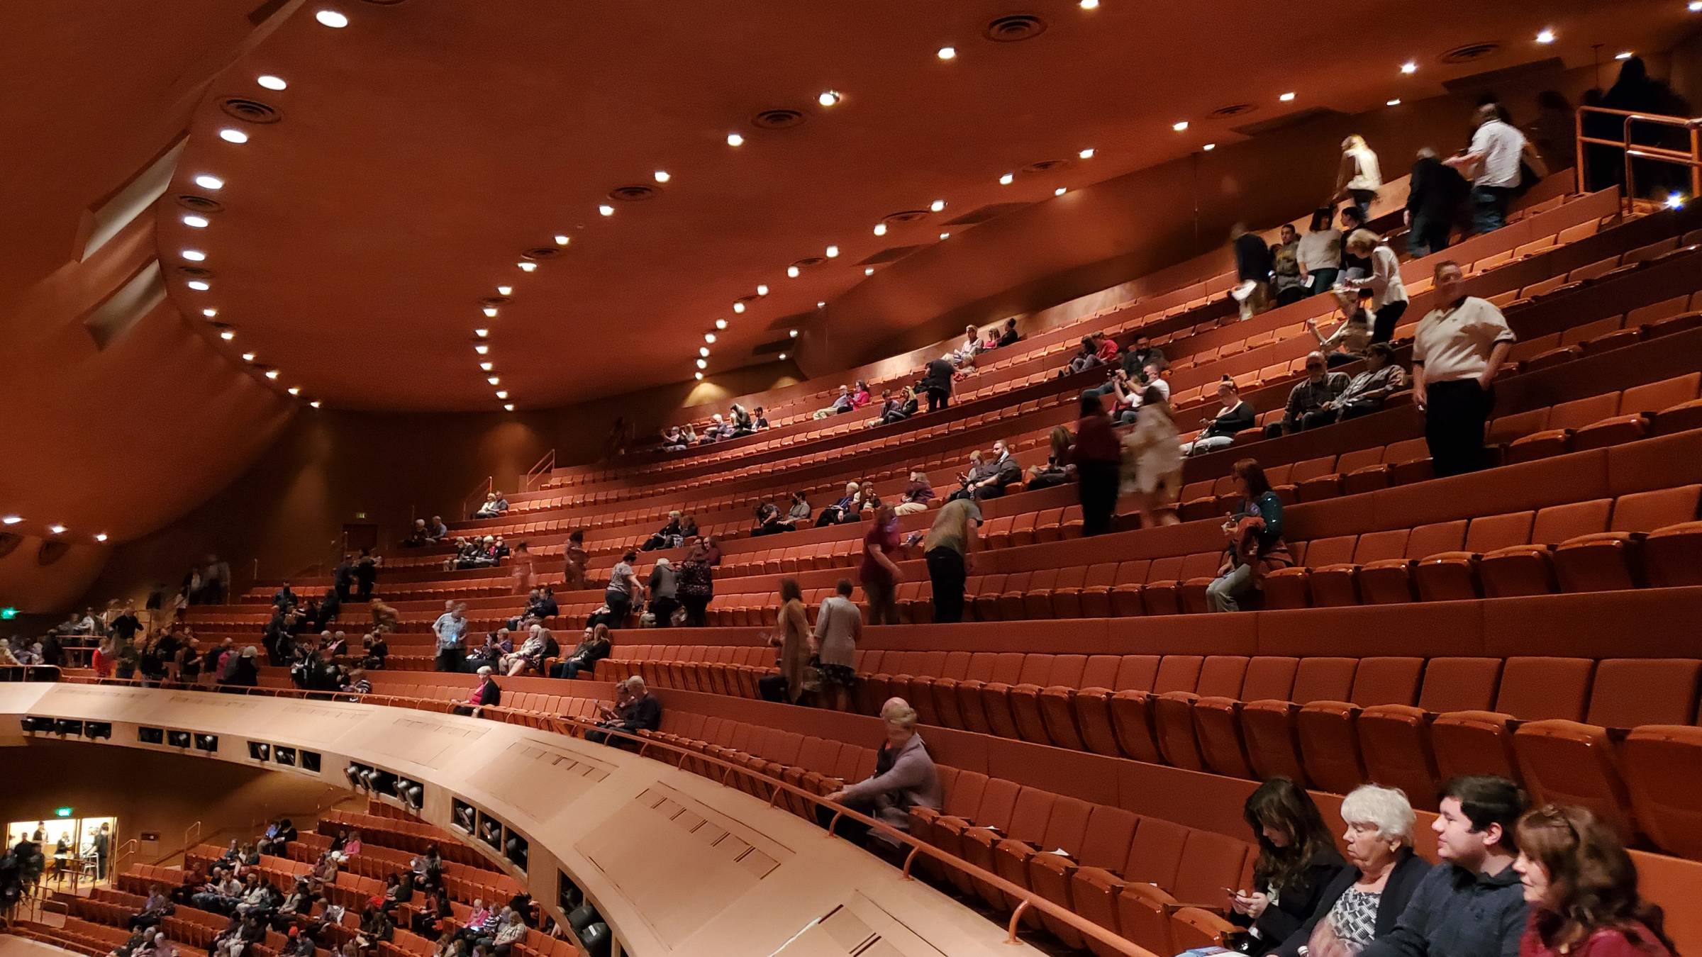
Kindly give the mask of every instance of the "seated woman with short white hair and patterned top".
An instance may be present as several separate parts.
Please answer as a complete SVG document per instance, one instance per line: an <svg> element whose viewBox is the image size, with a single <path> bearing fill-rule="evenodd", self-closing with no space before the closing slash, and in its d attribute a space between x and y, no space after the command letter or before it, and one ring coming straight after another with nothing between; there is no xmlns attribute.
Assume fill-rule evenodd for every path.
<svg viewBox="0 0 1702 957"><path fill-rule="evenodd" d="M1399 788L1360 785L1341 800L1348 868L1319 899L1311 920L1271 954L1353 957L1394 930L1430 863L1413 853L1413 805Z"/></svg>

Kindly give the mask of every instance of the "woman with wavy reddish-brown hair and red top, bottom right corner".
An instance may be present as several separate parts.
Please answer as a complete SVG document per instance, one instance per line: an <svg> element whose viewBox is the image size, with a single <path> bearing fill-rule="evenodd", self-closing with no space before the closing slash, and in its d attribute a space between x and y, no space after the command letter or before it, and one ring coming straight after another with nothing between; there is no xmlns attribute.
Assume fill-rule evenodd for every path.
<svg viewBox="0 0 1702 957"><path fill-rule="evenodd" d="M1673 957L1663 913L1637 894L1637 867L1612 828L1583 807L1545 804L1518 819L1530 923L1520 957Z"/></svg>

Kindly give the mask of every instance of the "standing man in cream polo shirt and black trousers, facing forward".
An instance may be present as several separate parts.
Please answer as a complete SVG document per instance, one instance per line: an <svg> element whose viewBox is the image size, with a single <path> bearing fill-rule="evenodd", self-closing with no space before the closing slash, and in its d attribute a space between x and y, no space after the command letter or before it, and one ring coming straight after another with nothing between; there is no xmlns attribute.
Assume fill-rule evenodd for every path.
<svg viewBox="0 0 1702 957"><path fill-rule="evenodd" d="M1438 262L1436 308L1413 339L1413 398L1425 410L1425 443L1436 477L1484 467L1491 383L1513 341L1494 303L1465 295L1460 264Z"/></svg>

